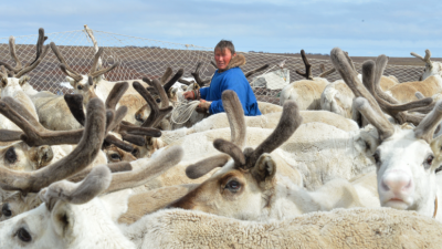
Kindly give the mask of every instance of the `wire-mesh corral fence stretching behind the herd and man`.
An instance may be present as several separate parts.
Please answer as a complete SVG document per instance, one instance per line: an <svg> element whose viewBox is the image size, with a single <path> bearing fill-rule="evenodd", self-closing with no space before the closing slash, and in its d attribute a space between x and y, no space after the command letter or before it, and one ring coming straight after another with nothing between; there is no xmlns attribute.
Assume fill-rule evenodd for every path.
<svg viewBox="0 0 442 249"><path fill-rule="evenodd" d="M214 72L213 66L210 64L210 61L213 60L213 48L157 41L97 30L94 30L93 34L98 46L105 49L102 56L103 66L108 66L117 61L120 63L118 68L105 75L109 81L141 79L143 76L156 79L160 77L168 66L173 72L178 69L183 69L185 76L191 76L190 72L194 70L198 62L203 63L200 73L203 80L209 79ZM46 35L49 39L45 44L55 42L73 70L83 74L88 72L95 49L85 30L48 33ZM0 38L0 60L14 65L10 56L8 39ZM38 34L15 37L17 53L23 64L31 62L35 58L36 39ZM276 75L282 77L290 76L290 82L303 79L295 73L295 70L304 71L304 63L301 56L254 52L242 53L248 61L242 66L244 72L263 64L270 64L270 68L264 72L257 73L257 76L275 72L280 70L278 64L285 60L285 71L280 70L277 72L281 72L281 74ZM324 64L326 70L333 68L329 60L309 59L309 62L314 76L320 73L320 64ZM61 83L65 81L65 75L60 70L59 64L56 56L50 51L44 61L29 73L31 85L39 91L46 90L57 94L71 92L72 90L61 86ZM355 65L360 72L361 63L355 63ZM288 75L282 73L287 72L286 70L288 70ZM387 65L385 75L394 75L400 82L415 81L421 75L422 70L422 66ZM335 72L327 79L332 82L338 80L339 76ZM256 77L252 77L249 81L259 101L280 104L278 94L283 85L270 87L266 84L255 84L257 82Z"/></svg>

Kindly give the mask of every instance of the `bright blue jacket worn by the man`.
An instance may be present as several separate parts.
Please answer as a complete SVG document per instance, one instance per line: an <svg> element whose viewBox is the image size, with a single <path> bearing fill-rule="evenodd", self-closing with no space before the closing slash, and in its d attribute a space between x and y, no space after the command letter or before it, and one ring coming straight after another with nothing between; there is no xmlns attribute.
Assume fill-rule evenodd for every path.
<svg viewBox="0 0 442 249"><path fill-rule="evenodd" d="M217 70L210 86L200 90L201 98L212 102L210 114L224 112L221 94L225 90L232 90L238 94L245 116L261 115L255 94L240 68L229 69L222 73L218 73Z"/></svg>

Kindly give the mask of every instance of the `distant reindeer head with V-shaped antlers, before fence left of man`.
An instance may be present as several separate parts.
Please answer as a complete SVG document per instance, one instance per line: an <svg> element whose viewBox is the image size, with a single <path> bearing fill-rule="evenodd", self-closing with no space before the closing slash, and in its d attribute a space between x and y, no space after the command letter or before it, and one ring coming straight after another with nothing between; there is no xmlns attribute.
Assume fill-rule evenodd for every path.
<svg viewBox="0 0 442 249"><path fill-rule="evenodd" d="M61 63L60 68L62 72L66 74L66 81L69 81L72 87L74 87L74 93L83 95L84 104L86 104L92 97L96 96L95 87L99 81L102 81L101 76L119 65L119 62L116 62L107 69L97 69L99 56L102 56L104 52L104 49L99 48L98 52L94 56L91 71L87 73L87 75L83 75L69 66L67 62L64 60L54 42L51 42L51 49L54 51ZM90 76L92 80L90 80Z"/></svg>

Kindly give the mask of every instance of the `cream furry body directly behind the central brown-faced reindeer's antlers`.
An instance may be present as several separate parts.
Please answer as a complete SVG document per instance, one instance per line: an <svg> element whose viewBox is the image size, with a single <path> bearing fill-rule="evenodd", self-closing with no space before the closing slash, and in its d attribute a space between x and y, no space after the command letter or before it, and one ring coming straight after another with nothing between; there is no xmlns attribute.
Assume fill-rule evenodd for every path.
<svg viewBox="0 0 442 249"><path fill-rule="evenodd" d="M257 146L271 132L272 129L249 127L245 146ZM212 147L215 138L230 139L230 128L190 134L170 145L186 144L183 162L194 163L198 158L217 154ZM287 172L286 176L293 174L294 183L304 181L304 186L313 190L336 177L351 179L372 169L372 154L377 143L378 134L372 126L344 132L323 123L307 123L301 125L272 156L274 159L281 158L280 164L291 168L292 173ZM293 168L297 173L293 173ZM304 180L295 177L299 175Z"/></svg>

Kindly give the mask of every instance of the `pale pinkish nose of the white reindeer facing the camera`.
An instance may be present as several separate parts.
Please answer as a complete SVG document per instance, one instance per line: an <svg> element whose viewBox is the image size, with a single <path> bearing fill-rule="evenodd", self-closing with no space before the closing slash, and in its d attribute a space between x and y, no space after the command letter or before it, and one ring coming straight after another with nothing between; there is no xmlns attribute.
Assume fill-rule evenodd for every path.
<svg viewBox="0 0 442 249"><path fill-rule="evenodd" d="M399 194L410 190L412 184L410 175L404 172L394 170L383 176L380 187L385 191L391 190Z"/></svg>

